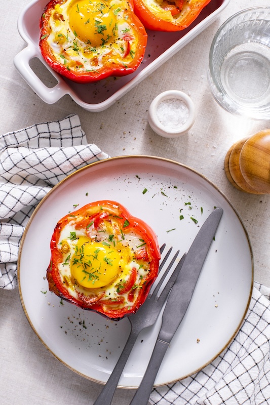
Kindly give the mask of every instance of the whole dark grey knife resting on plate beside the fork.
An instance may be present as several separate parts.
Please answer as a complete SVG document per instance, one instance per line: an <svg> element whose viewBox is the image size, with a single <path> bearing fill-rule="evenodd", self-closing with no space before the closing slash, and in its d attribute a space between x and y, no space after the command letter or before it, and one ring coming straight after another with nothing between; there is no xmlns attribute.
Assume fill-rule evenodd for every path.
<svg viewBox="0 0 270 405"><path fill-rule="evenodd" d="M222 214L222 208L216 208L209 215L188 250L164 308L161 330L146 372L130 405L148 404L161 362L189 306Z"/></svg>

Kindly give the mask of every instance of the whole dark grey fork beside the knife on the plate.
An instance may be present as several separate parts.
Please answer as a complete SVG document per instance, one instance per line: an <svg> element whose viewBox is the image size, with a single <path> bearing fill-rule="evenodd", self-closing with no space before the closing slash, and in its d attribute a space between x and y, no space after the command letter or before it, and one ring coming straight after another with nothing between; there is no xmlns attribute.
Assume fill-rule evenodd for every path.
<svg viewBox="0 0 270 405"><path fill-rule="evenodd" d="M163 252L165 249L165 244L161 247L161 252ZM164 264L166 263L168 257L170 256L172 251L172 248L169 249L168 253L162 260L160 267L159 267L159 273L161 269L163 268ZM100 392L98 398L94 402L93 405L110 405L114 391L117 388L119 379L121 377L121 374L124 370L124 367L126 365L127 359L130 355L130 352L136 342L136 339L139 335L139 333L144 329L147 328L151 325L153 325L158 316L159 313L163 307L163 304L175 282L175 279L177 277L177 274L179 273L181 266L183 264L185 255L181 258L179 264L176 266L174 271L172 272L166 286L164 287L162 293L160 296L158 296L159 290L162 287L162 284L170 271L172 265L174 264L177 256L179 254L179 251L176 252L174 255L173 259L169 263L166 271L162 275L161 279L159 280L157 286L153 286L153 291L150 290L150 293L147 296L147 299L145 300L144 304L138 309L136 314L133 314L131 316L128 316L128 320L130 321L131 324L131 331L130 335L128 337L127 343L121 353L121 356L119 357L119 360L117 364L115 365L108 381L106 382L104 388Z"/></svg>

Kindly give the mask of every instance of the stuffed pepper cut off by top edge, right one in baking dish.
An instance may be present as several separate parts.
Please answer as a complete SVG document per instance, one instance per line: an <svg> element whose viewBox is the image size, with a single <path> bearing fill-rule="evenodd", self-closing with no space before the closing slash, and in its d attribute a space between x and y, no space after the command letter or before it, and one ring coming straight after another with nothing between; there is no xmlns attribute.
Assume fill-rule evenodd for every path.
<svg viewBox="0 0 270 405"><path fill-rule="evenodd" d="M135 14L145 28L180 31L188 27L211 0L134 0Z"/></svg>

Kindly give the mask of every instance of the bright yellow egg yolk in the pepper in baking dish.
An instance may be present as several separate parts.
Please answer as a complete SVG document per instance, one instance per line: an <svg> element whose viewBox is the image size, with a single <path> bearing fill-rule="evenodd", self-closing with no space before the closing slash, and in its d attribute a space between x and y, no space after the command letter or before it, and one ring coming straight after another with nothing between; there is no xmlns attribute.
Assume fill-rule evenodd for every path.
<svg viewBox="0 0 270 405"><path fill-rule="evenodd" d="M102 1L79 0L72 3L68 14L75 36L92 47L102 46L114 36L117 16Z"/></svg>

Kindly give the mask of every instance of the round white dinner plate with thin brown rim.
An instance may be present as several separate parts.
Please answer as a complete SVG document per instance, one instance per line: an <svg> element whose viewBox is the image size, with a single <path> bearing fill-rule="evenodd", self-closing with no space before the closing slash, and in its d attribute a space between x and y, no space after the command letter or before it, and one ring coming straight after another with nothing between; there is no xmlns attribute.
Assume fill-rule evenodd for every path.
<svg viewBox="0 0 270 405"><path fill-rule="evenodd" d="M58 220L76 205L102 199L121 203L155 230L160 245L166 242L181 255L214 207L223 209L194 296L155 385L194 374L239 330L251 299L253 259L247 232L227 198L205 177L172 160L153 156L102 160L68 176L41 201L24 232L18 260L20 297L31 327L71 370L96 382L107 381L127 340L128 319L108 320L62 302L49 292L46 280L50 239ZM119 386L139 386L160 325L161 316L154 327L142 331Z"/></svg>

